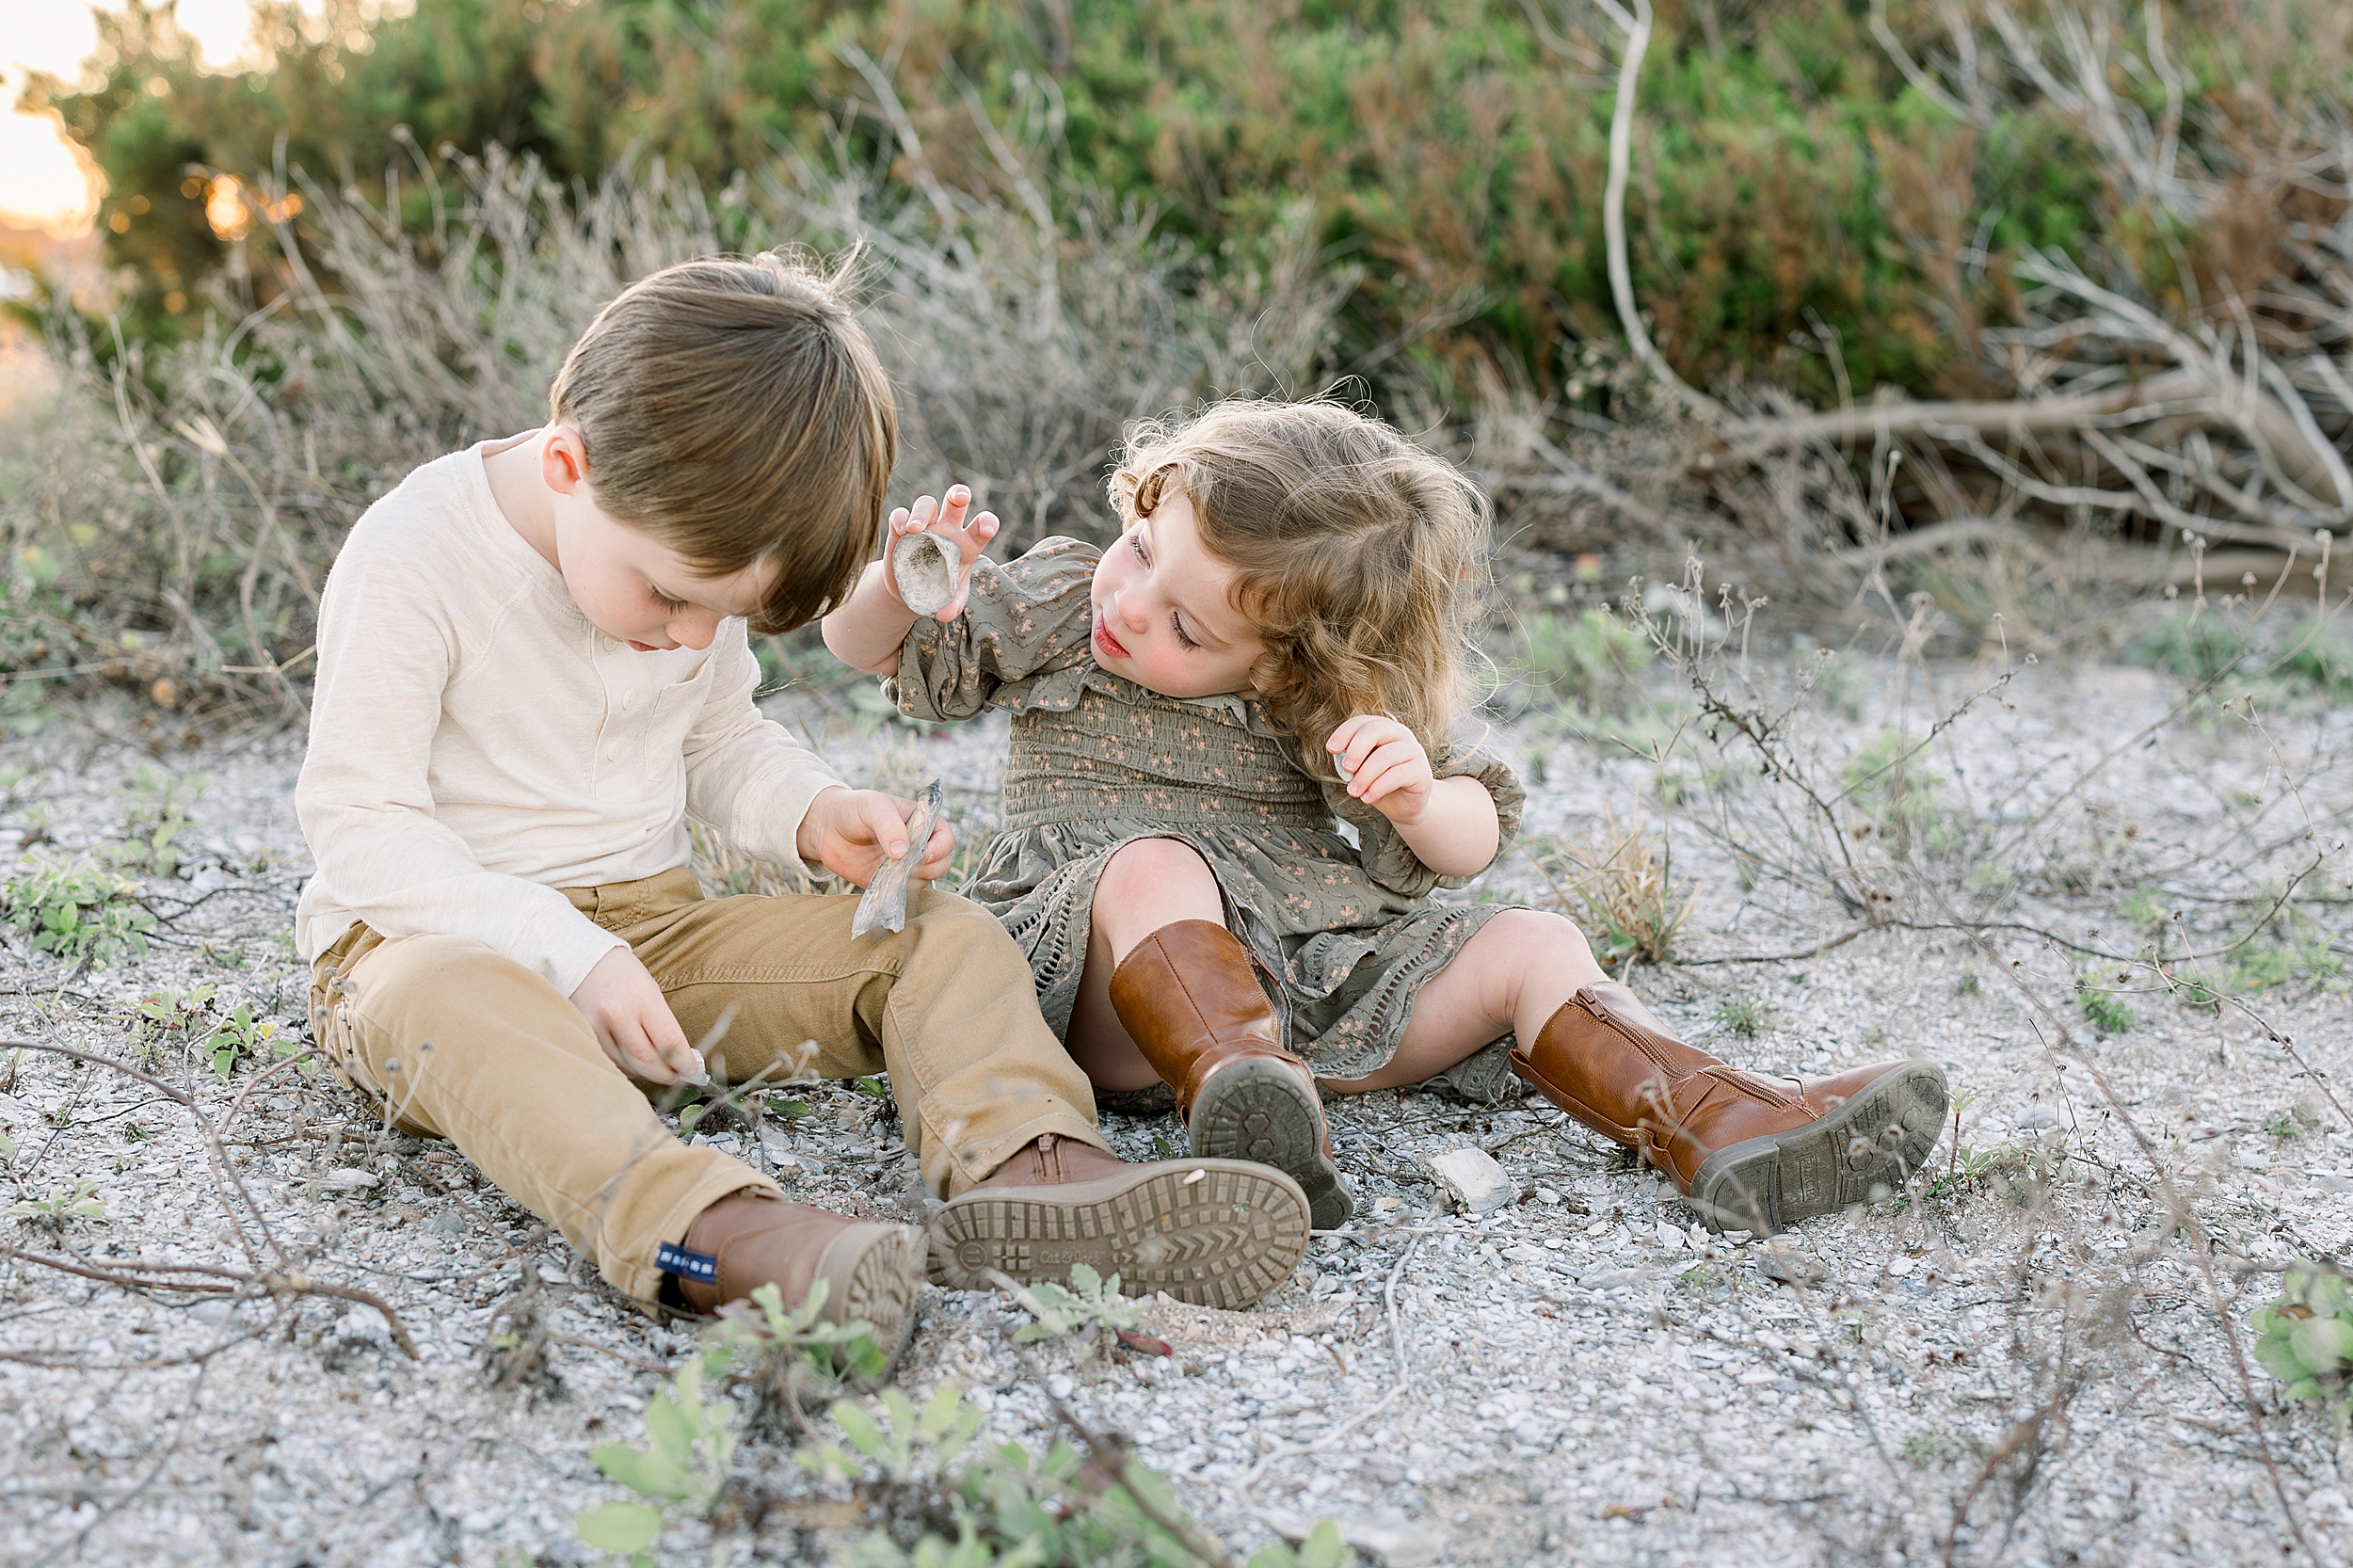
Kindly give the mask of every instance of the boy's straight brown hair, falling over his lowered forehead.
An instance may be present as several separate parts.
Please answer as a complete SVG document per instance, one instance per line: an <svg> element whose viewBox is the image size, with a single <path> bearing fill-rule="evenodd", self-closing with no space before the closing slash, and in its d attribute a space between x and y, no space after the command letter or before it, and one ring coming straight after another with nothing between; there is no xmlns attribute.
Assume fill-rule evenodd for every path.
<svg viewBox="0 0 2353 1568"><path fill-rule="evenodd" d="M668 266L598 311L548 391L605 513L713 577L776 563L760 633L849 598L882 534L899 410L849 266L793 252Z"/></svg>

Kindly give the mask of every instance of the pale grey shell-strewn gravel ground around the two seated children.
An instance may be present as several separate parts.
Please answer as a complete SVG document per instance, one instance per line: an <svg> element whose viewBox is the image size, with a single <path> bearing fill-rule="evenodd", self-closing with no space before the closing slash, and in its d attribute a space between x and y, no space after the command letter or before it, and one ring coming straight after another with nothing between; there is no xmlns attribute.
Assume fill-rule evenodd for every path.
<svg viewBox="0 0 2353 1568"><path fill-rule="evenodd" d="M1882 725L1922 732L1986 680L1864 669L1845 711L1793 744L1838 779L1835 758ZM1969 911L1972 930L1885 925L1805 958L1633 970L1668 1022L1739 1064L1925 1052L1967 1095L1967 1154L1948 1130L1906 1201L1807 1224L1798 1260L1697 1229L1668 1187L1541 1099L1384 1092L1332 1114L1358 1222L1257 1311L1160 1300L1146 1323L1172 1356L1045 1344L1040 1380L1007 1340L1024 1314L927 1290L901 1382L918 1401L965 1387L1014 1439L1052 1434L1047 1394L1068 1398L1129 1434L1238 1552L1337 1516L1400 1566L2346 1561L2353 1448L2318 1408L2282 1406L2247 1314L2289 1257L2341 1255L2353 1231L2353 1038L2327 925L2348 897L2332 850L2353 800L2348 723L2294 702L2261 730L2212 704L2165 723L2179 697L2148 671L2028 666L1939 737L1925 756L1960 838L1932 873L1897 878L1889 909L1922 928ZM986 831L1000 727L918 735L852 695L772 706L852 779L944 777ZM1501 739L1541 763L1532 833L1657 817L1659 768L1624 746L1541 716ZM1795 954L1852 930L1835 878L1805 876L1793 791L1753 753L1722 756L1671 765L1675 876L1699 890L1682 956ZM162 991L214 986L186 1015L195 1034L245 1005L301 1036L296 768L285 732L191 742L169 716L113 706L0 746L0 779L21 770L0 810L12 876L118 833L139 770L212 779L184 876L151 881L167 918L144 956L78 970L19 939L0 951L0 1036L153 1076L38 1050L0 1069L0 1203L89 1182L104 1205L0 1220L0 1559L607 1561L572 1533L616 1495L588 1450L640 1436L692 1335L633 1311L447 1147L372 1128L329 1076L268 1071L264 1043L224 1081L191 1031L141 1019ZM1706 822L1772 864L1744 876ZM2137 951L2151 899L2155 923L2181 909L2172 951L2224 946L2315 859L2294 885L2311 913L2235 949L2292 951L2242 991L2259 1019L2094 956ZM1548 892L1511 857L1466 897ZM2099 1034L2080 979L2127 991L2129 1026ZM873 1097L795 1095L800 1118L708 1137L807 1201L922 1212ZM1132 1156L1181 1137L1172 1121L1111 1132ZM1520 1191L1485 1220L1449 1215L1414 1163L1466 1144ZM118 1283L165 1262L233 1288ZM254 1276L280 1288L235 1283ZM398 1330L322 1288L379 1297ZM539 1358L501 1377L515 1347ZM824 1556L856 1523L842 1488L776 1443L744 1443L736 1467L784 1497L758 1528L720 1519L736 1561ZM711 1556L701 1526L673 1547Z"/></svg>

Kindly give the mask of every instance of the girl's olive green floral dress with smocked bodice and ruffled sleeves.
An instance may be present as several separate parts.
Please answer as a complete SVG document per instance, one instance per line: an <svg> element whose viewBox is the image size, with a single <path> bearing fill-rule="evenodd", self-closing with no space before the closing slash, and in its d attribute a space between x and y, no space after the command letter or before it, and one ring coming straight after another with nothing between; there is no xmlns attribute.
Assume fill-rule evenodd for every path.
<svg viewBox="0 0 2353 1568"><path fill-rule="evenodd" d="M1099 558L1047 539L1007 565L981 560L965 614L915 622L899 652L887 690L904 713L1012 713L1005 822L965 892L1028 954L1059 1036L1104 864L1136 838L1181 838L1217 873L1226 925L1257 958L1289 1048L1322 1078L1362 1078L1398 1052L1421 982L1497 906L1433 902L1433 888L1471 878L1440 878L1388 817L1311 777L1257 702L1176 702L1101 669L1087 603ZM1475 746L1433 760L1438 777L1487 786L1511 843L1522 803L1511 768Z"/></svg>

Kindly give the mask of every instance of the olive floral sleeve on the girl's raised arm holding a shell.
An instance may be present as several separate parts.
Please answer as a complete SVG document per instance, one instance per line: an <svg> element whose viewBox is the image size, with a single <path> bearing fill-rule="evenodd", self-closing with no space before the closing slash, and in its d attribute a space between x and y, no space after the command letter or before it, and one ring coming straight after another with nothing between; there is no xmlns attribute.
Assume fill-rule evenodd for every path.
<svg viewBox="0 0 2353 1568"><path fill-rule="evenodd" d="M882 695L908 718L948 723L984 709L1068 709L1094 671L1089 584L1101 551L1040 539L1019 560L972 563L972 598L953 622L922 617ZM1064 690L1068 687L1068 690Z"/></svg>

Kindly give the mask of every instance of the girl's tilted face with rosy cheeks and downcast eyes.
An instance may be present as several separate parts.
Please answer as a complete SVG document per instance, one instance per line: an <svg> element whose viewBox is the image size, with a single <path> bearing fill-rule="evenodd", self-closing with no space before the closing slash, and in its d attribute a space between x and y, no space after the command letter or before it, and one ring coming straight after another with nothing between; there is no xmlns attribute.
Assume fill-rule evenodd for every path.
<svg viewBox="0 0 2353 1568"><path fill-rule="evenodd" d="M1266 643L1233 607L1233 577L1202 546L1193 501L1165 490L1094 567L1094 662L1162 697L1249 692Z"/></svg>

